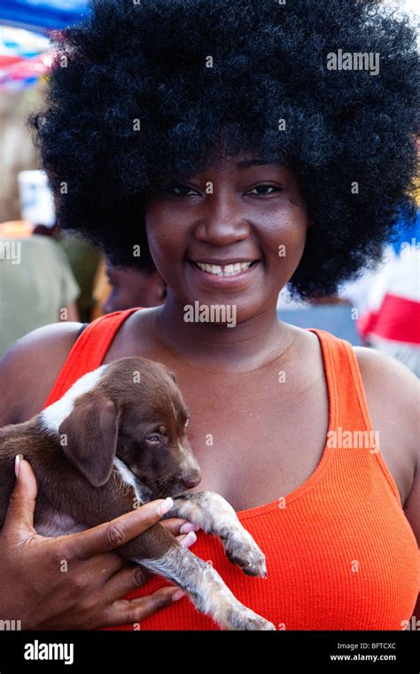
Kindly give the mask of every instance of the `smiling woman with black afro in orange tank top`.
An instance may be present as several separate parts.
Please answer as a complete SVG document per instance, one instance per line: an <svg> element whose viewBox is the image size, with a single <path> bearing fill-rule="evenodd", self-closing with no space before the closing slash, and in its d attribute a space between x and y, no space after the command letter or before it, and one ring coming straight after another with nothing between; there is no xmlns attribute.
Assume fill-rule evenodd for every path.
<svg viewBox="0 0 420 674"><path fill-rule="evenodd" d="M266 553L268 580L233 568L202 531L193 550L278 629L401 630L417 599L416 377L276 317L286 284L301 297L331 294L378 259L399 210L414 212L414 35L383 12L355 0L94 3L91 20L61 37L66 67L58 62L50 105L33 118L51 184L66 184L61 226L117 263L152 255L167 301L80 336L79 324L29 334L2 364L2 419L28 419L97 364L133 354L166 364L192 412L196 490L234 506ZM328 54L343 49L378 52L380 73L329 69ZM4 615L22 597L33 606L33 586L38 600L47 593L42 545L51 568L64 544L46 553L32 541L19 584L24 546L6 554ZM117 624L95 547L83 550L81 601L55 574L43 624L58 614L67 627ZM154 577L130 597L164 585ZM187 598L139 615L143 630L215 629Z"/></svg>

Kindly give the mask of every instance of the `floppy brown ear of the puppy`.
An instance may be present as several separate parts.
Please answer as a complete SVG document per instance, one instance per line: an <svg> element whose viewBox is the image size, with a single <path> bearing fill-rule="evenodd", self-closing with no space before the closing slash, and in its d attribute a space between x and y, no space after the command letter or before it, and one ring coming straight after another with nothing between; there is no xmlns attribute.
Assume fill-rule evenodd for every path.
<svg viewBox="0 0 420 674"><path fill-rule="evenodd" d="M112 400L89 393L76 399L59 427L66 457L94 487L105 484L113 471L119 421Z"/></svg>

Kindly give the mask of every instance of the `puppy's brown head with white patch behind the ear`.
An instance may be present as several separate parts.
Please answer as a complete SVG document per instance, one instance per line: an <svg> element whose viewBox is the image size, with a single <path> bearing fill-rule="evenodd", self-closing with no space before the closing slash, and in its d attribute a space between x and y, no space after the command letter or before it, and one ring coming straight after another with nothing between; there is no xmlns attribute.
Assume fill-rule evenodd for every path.
<svg viewBox="0 0 420 674"><path fill-rule="evenodd" d="M115 457L154 498L175 496L200 482L186 435L190 413L174 375L159 363L128 357L103 365L78 380L41 418L95 487L109 480Z"/></svg>

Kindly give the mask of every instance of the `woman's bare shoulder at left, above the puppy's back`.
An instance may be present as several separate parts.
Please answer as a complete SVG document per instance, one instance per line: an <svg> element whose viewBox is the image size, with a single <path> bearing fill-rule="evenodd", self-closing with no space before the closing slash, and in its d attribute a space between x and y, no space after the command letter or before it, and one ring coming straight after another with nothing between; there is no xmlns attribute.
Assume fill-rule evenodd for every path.
<svg viewBox="0 0 420 674"><path fill-rule="evenodd" d="M0 359L0 427L26 421L43 408L81 323L52 323L27 333Z"/></svg>

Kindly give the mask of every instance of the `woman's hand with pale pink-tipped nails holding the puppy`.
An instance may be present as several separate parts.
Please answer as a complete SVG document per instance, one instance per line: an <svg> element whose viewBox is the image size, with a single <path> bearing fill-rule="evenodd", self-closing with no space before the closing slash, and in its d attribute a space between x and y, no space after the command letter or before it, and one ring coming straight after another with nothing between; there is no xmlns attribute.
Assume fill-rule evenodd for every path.
<svg viewBox="0 0 420 674"><path fill-rule="evenodd" d="M127 565L114 552L142 534L169 510L164 500L142 505L94 529L58 538L42 537L34 529L35 474L20 460L9 509L0 534L0 619L20 620L22 630L94 630L140 623L148 615L181 599L174 585L136 600L122 600L144 585L150 574ZM183 545L190 522L171 518L161 522Z"/></svg>

